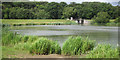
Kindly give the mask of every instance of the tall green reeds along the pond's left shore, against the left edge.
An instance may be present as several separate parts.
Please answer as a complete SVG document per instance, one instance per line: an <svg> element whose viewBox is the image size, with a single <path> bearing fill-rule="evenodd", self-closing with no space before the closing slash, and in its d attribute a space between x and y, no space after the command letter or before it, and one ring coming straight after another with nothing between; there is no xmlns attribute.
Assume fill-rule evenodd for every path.
<svg viewBox="0 0 120 60"><path fill-rule="evenodd" d="M9 28L3 28L2 31L2 45L16 45L18 43L31 43L37 40L37 36L21 36L16 32L9 31Z"/></svg>

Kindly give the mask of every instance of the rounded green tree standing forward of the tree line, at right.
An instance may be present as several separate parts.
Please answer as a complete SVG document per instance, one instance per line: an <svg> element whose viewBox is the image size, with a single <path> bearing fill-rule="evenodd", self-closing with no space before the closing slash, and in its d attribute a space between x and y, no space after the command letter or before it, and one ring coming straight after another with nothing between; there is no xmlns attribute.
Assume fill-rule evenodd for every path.
<svg viewBox="0 0 120 60"><path fill-rule="evenodd" d="M94 16L93 18L94 22L98 24L108 23L109 19L110 19L110 16L107 12L99 12L97 16Z"/></svg>

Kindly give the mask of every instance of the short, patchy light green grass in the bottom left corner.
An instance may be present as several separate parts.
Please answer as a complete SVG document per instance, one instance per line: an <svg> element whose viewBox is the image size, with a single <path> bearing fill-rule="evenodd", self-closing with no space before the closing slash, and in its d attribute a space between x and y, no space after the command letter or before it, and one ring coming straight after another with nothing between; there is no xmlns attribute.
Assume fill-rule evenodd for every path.
<svg viewBox="0 0 120 60"><path fill-rule="evenodd" d="M29 54L29 52L26 50L18 50L14 47L2 46L2 58L20 58L22 56L18 55L24 54Z"/></svg>

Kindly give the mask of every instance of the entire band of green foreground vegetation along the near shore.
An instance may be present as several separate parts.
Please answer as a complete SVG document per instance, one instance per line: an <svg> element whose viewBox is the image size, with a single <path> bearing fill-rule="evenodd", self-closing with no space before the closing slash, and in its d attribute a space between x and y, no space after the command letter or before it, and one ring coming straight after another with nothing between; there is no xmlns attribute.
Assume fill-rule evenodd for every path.
<svg viewBox="0 0 120 60"><path fill-rule="evenodd" d="M61 55L81 55L87 54L88 58L118 58L119 51L110 45L98 45L94 48L95 42L88 38L69 37L63 44L59 46L57 41L52 41L44 37L37 36L21 36L12 33L8 28L3 28L2 34L2 52L3 58L14 57L18 54L61 54ZM90 51L90 52L89 52ZM28 53L29 52L29 53Z"/></svg>

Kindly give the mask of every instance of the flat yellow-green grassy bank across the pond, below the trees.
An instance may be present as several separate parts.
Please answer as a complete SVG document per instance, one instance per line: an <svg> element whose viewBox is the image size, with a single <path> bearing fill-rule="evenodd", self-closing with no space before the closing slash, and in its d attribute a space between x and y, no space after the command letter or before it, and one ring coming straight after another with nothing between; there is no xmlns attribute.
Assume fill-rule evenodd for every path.
<svg viewBox="0 0 120 60"><path fill-rule="evenodd" d="M66 19L2 19L3 25L71 25L74 21Z"/></svg>

